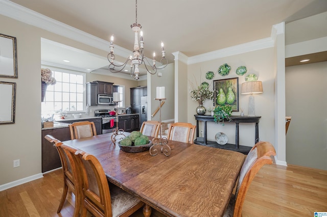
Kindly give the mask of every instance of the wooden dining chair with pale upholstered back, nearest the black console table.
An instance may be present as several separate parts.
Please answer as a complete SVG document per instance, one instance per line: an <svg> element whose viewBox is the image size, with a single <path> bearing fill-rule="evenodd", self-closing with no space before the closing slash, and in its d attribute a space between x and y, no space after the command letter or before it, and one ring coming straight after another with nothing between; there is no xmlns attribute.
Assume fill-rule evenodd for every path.
<svg viewBox="0 0 327 217"><path fill-rule="evenodd" d="M196 125L190 123L172 123L168 129L168 140L194 144L194 132Z"/></svg>

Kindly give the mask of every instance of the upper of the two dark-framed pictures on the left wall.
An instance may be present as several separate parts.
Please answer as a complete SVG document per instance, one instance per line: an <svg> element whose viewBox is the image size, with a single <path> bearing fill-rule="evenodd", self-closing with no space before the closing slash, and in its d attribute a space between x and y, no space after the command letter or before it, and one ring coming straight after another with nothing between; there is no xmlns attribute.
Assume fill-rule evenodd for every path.
<svg viewBox="0 0 327 217"><path fill-rule="evenodd" d="M18 77L16 37L4 34L0 34L0 77Z"/></svg>

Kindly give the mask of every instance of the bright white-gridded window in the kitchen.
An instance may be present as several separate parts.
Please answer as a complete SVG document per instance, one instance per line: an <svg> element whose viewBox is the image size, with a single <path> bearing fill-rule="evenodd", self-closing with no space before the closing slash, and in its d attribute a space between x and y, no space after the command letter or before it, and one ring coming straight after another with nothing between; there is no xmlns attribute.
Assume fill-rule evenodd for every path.
<svg viewBox="0 0 327 217"><path fill-rule="evenodd" d="M85 74L66 70L52 72L57 83L46 89L42 114L84 111Z"/></svg>

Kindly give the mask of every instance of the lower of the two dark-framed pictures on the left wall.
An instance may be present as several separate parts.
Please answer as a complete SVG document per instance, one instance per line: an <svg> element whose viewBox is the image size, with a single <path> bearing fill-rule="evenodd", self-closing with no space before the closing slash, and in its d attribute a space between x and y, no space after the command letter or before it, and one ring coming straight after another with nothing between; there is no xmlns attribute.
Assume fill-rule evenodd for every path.
<svg viewBox="0 0 327 217"><path fill-rule="evenodd" d="M0 124L15 123L16 83L0 82Z"/></svg>

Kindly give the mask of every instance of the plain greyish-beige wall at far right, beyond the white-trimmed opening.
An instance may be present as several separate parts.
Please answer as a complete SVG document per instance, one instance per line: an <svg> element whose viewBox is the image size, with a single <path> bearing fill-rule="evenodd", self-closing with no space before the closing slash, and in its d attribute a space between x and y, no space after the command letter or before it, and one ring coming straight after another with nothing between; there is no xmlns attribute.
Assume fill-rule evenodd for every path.
<svg viewBox="0 0 327 217"><path fill-rule="evenodd" d="M286 67L288 164L327 170L327 62Z"/></svg>

